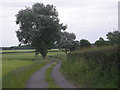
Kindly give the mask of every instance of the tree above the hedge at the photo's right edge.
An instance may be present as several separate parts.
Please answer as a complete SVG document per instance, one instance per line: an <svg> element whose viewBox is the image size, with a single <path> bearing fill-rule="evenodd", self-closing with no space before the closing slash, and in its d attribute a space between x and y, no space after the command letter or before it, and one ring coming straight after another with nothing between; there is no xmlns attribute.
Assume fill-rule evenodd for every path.
<svg viewBox="0 0 120 90"><path fill-rule="evenodd" d="M120 31L108 32L106 36L111 45L120 43Z"/></svg>

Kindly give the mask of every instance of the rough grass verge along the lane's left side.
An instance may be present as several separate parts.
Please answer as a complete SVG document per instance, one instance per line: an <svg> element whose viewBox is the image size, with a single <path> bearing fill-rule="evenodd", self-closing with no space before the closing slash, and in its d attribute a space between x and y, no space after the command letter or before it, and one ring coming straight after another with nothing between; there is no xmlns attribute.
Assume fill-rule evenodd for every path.
<svg viewBox="0 0 120 90"><path fill-rule="evenodd" d="M3 88L25 88L26 81L30 78L30 76L45 64L45 60L37 60L29 66L20 67L13 70L3 77Z"/></svg>

